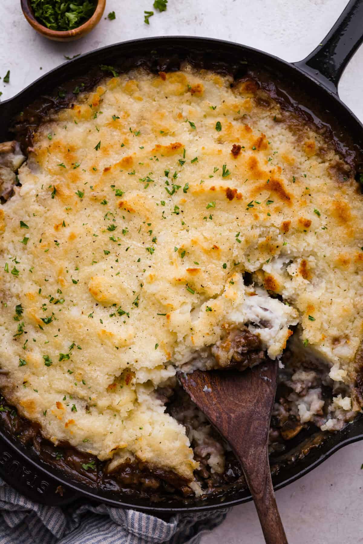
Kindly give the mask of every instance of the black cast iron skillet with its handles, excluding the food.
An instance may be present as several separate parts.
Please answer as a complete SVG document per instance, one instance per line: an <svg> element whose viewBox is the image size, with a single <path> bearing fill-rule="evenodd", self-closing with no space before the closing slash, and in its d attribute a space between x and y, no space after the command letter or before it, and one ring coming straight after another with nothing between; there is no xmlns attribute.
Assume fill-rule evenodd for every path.
<svg viewBox="0 0 363 544"><path fill-rule="evenodd" d="M337 139L342 133L348 133L351 145L363 149L363 126L340 101L337 93L337 84L344 67L363 40L362 21L363 0L350 0L322 44L304 60L293 64L251 47L209 38L170 36L132 40L104 47L59 66L11 100L1 103L0 141L12 138L8 127L16 114L36 98L50 93L56 86L100 64L121 66L127 70L132 65L130 59L150 57L152 53L155 70L170 69L173 59L180 61L187 57L199 59L202 66L213 70L222 65L230 66L235 76L243 75L249 66L267 70L273 78L288 83L292 89L291 96L304 95L310 104L320 105L319 110L331 120L330 125L333 128L339 127L339 132L335 132ZM273 478L275 489L300 478L346 444L362 439L363 417L360 416L342 431L329 435L319 446L310 449L306 456L300 454L302 459L298 462L287 463L277 471ZM90 501L168 515L174 512L203 511L218 506L225 508L251 500L248 490L239 490L227 491L222 498L210 497L192 505L186 505L182 500L151 504L147 499L94 490L57 472L32 455L0 431L0 476L27 497L47 505L61 505L77 497L88 497Z"/></svg>

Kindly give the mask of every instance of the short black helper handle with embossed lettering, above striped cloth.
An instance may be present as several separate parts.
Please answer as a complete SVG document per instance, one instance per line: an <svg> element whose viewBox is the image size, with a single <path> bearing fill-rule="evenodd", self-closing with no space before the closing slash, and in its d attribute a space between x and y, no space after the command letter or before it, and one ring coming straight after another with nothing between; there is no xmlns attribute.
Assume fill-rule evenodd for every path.
<svg viewBox="0 0 363 544"><path fill-rule="evenodd" d="M72 502L79 494L28 460L8 439L0 435L0 478L30 500L47 506Z"/></svg>

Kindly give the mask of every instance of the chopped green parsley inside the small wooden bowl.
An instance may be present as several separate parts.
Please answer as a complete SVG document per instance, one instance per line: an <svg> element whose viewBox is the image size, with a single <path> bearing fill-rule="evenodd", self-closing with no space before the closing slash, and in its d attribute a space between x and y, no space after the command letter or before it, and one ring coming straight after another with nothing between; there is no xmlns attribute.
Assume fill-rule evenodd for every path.
<svg viewBox="0 0 363 544"><path fill-rule="evenodd" d="M30 0L38 22L51 30L72 30L94 14L97 2L89 0Z"/></svg>

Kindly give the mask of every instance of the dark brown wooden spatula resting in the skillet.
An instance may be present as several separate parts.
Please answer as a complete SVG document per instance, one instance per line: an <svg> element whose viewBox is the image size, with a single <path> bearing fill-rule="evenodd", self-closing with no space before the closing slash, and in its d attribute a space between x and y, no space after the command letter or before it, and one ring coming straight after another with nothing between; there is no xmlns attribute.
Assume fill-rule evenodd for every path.
<svg viewBox="0 0 363 544"><path fill-rule="evenodd" d="M267 544L288 544L271 481L268 431L278 361L244 372L179 374L184 390L229 442L241 463Z"/></svg>

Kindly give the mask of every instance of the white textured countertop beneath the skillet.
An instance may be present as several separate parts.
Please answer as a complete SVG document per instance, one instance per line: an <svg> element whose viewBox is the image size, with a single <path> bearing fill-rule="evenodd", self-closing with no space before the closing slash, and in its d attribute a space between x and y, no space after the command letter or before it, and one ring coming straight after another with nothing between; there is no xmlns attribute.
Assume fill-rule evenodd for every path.
<svg viewBox="0 0 363 544"><path fill-rule="evenodd" d="M241 42L288 61L303 59L319 44L345 7L346 0L169 0L168 10L144 24L153 0L107 0L106 14L86 38L59 44L41 38L24 19L19 0L0 2L0 80L2 99L15 95L63 55L85 53L122 40L155 35L199 35ZM341 79L342 100L363 120L363 47ZM290 544L363 542L363 444L336 453L315 471L276 493ZM232 509L227 520L202 544L260 544L261 529L253 504Z"/></svg>

